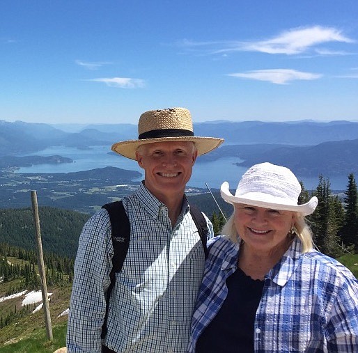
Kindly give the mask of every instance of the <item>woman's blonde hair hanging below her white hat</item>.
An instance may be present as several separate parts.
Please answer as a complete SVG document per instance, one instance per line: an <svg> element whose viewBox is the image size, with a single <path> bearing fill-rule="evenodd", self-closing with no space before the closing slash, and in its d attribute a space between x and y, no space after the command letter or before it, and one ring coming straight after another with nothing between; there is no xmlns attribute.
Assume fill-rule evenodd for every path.
<svg viewBox="0 0 358 353"><path fill-rule="evenodd" d="M296 212L296 220L294 223L296 228L295 233L299 240L302 242L302 253L308 253L313 249L313 237L311 229L309 225L306 223L306 219L302 214ZM238 231L235 227L235 211L231 214L231 217L224 224L221 229L222 235L228 235L232 242L238 242L238 238L240 239L240 235L238 235Z"/></svg>

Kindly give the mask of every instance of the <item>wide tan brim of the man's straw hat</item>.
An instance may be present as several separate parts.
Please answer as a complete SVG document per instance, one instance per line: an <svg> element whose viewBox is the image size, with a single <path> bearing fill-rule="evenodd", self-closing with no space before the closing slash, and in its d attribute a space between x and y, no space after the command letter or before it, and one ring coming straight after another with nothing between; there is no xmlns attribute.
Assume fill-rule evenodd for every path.
<svg viewBox="0 0 358 353"><path fill-rule="evenodd" d="M123 155L130 159L137 160L136 150L139 146L147 143L157 142L170 142L170 141L192 141L195 143L198 155L205 155L205 153L215 150L219 147L224 139L217 139L215 137L199 137L199 136L182 136L182 137L158 137L156 139L141 139L141 140L127 140L122 142L114 143L111 146L111 150Z"/></svg>

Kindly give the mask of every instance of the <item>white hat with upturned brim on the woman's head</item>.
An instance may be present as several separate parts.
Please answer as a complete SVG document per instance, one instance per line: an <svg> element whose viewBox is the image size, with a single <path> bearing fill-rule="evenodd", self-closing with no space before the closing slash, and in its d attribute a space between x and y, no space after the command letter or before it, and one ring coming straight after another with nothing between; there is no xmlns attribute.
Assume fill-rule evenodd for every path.
<svg viewBox="0 0 358 353"><path fill-rule="evenodd" d="M223 182L220 191L228 203L294 211L304 216L313 213L318 204L318 198L313 196L309 202L298 205L301 185L295 174L284 166L267 162L251 166L242 175L235 196L229 191L228 182Z"/></svg>

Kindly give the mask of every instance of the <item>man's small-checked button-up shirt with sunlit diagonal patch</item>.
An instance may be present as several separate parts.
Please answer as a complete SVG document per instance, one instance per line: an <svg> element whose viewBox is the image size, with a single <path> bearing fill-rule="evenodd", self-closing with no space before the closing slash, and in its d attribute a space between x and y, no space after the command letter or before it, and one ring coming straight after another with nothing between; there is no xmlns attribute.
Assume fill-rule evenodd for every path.
<svg viewBox="0 0 358 353"><path fill-rule="evenodd" d="M123 205L130 247L111 292L107 337L101 342L113 246L109 214L100 210L79 238L68 352L101 352L101 343L116 352L185 352L205 264L187 200L174 227L166 206L143 184ZM208 227L211 236L210 221Z"/></svg>

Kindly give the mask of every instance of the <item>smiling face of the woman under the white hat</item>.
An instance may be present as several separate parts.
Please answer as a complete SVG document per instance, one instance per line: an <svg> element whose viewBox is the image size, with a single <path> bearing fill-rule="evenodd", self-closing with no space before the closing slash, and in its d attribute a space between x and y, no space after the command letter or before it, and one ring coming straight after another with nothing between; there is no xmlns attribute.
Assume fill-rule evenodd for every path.
<svg viewBox="0 0 358 353"><path fill-rule="evenodd" d="M295 212L235 203L235 227L245 247L257 252L284 246L295 223Z"/></svg>

